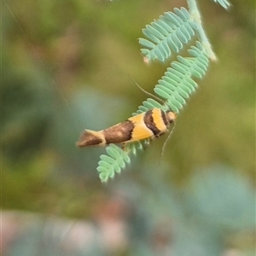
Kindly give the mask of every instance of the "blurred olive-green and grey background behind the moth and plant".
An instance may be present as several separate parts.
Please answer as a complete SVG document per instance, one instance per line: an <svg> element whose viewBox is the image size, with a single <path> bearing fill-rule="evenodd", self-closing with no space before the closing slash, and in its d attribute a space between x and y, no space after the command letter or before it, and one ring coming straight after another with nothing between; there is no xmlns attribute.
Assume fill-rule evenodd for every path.
<svg viewBox="0 0 256 256"><path fill-rule="evenodd" d="M255 3L199 1L218 55L178 116L107 184L84 128L131 116L173 59L143 27L185 1L4 0L2 255L254 255ZM175 59L175 58L174 58ZM131 78L130 78L131 76Z"/></svg>

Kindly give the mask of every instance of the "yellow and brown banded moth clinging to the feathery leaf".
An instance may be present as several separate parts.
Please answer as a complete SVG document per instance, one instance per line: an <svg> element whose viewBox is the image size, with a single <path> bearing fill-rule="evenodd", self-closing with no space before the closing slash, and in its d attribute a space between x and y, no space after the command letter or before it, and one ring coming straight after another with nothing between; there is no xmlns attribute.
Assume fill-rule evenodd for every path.
<svg viewBox="0 0 256 256"><path fill-rule="evenodd" d="M131 143L160 137L168 131L169 125L175 122L176 117L172 110L165 112L160 108L152 108L102 131L84 130L77 146Z"/></svg>

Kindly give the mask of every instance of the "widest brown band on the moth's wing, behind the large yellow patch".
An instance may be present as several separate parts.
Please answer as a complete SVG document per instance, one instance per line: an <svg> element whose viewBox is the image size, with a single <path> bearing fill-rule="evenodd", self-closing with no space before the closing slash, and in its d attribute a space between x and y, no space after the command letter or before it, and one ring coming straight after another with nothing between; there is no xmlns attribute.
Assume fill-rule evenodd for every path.
<svg viewBox="0 0 256 256"><path fill-rule="evenodd" d="M131 120L126 120L118 125L113 125L103 130L106 143L124 143L131 140L134 124Z"/></svg>

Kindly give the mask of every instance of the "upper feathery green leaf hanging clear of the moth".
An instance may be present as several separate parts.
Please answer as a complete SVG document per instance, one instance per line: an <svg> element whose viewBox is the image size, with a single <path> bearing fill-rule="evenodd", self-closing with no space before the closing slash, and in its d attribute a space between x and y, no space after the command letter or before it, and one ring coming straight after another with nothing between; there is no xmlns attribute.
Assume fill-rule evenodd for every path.
<svg viewBox="0 0 256 256"><path fill-rule="evenodd" d="M160 15L143 29L143 34L148 38L139 38L139 43L144 47L142 54L150 60L165 61L172 55L172 51L183 49L195 35L196 23L185 8L174 9Z"/></svg>

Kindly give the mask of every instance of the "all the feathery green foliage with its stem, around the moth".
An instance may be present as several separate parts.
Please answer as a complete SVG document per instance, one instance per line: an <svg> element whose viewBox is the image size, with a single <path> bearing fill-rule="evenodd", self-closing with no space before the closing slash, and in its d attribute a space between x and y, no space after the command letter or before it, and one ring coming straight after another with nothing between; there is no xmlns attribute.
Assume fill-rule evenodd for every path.
<svg viewBox="0 0 256 256"><path fill-rule="evenodd" d="M193 37L197 37L195 45L188 49L189 57L177 55L177 61L172 61L164 76L154 87L154 92L160 97L160 102L148 98L139 106L136 113L143 113L152 108L161 108L166 111L172 109L178 113L186 104L186 100L195 91L197 84L195 79L201 79L206 73L209 59L216 60L211 44L201 25L201 14L195 0L187 0L189 11L185 8L174 9L174 12L166 12L160 15L143 29L146 38L139 38L143 45L141 49L147 61L165 61L172 53L178 53L188 44ZM213 0L224 9L230 7L228 0ZM124 150L114 144L107 147L108 155L103 154L97 167L102 182L113 178L115 172L120 172L130 163L129 154L137 154L149 143L149 139L136 143L125 143Z"/></svg>

